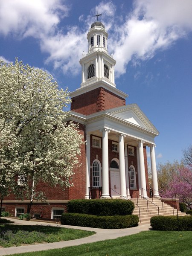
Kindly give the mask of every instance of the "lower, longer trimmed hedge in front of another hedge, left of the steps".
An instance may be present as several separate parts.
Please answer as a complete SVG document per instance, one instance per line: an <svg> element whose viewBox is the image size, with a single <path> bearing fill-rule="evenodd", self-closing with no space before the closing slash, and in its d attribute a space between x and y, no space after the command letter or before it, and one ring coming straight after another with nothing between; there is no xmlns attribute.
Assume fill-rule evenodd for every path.
<svg viewBox="0 0 192 256"><path fill-rule="evenodd" d="M118 229L138 226L137 215L97 216L80 213L64 213L61 215L61 224L80 227L96 227Z"/></svg>

